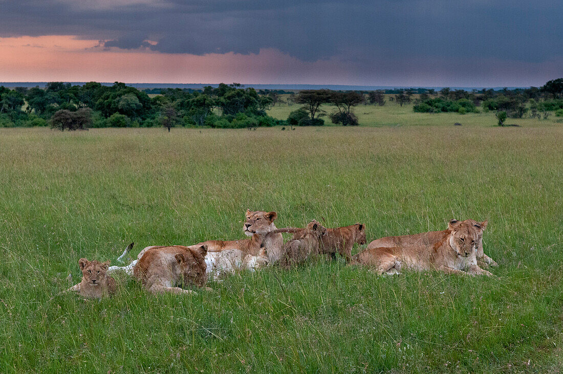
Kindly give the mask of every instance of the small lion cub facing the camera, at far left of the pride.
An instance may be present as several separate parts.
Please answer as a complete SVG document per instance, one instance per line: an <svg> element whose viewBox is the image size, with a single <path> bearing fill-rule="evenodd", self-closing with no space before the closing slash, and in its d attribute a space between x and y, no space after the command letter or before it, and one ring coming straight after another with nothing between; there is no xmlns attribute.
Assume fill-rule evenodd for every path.
<svg viewBox="0 0 563 374"><path fill-rule="evenodd" d="M108 276L109 260L102 263L96 260L88 261L85 258L78 260L82 270L82 281L70 287L67 291L79 292L85 298L98 298L115 293L116 283L114 278Z"/></svg>

